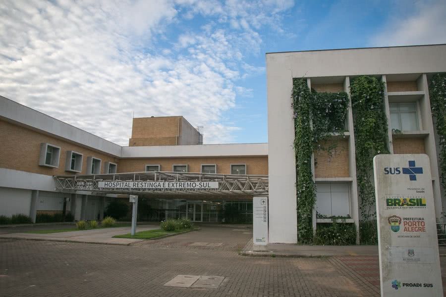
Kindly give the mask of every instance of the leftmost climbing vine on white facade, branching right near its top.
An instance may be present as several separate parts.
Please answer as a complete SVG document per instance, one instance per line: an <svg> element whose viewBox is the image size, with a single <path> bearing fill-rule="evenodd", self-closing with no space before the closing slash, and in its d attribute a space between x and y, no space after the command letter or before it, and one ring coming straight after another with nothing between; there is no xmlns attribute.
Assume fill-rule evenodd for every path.
<svg viewBox="0 0 446 297"><path fill-rule="evenodd" d="M312 92L306 79L293 79L294 152L296 157L297 236L299 242L313 240L312 215L316 186L311 171L314 149L333 132L343 132L348 96L340 93Z"/></svg>

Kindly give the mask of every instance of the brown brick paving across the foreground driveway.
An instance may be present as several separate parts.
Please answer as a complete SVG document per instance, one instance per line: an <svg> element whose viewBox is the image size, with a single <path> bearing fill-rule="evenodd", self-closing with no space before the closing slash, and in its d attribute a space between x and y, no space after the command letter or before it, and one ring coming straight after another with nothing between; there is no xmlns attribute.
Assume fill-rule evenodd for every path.
<svg viewBox="0 0 446 297"><path fill-rule="evenodd" d="M0 296L379 296L376 257L239 256L249 232L203 227L128 247L3 239ZM225 279L218 289L163 286L179 274Z"/></svg>

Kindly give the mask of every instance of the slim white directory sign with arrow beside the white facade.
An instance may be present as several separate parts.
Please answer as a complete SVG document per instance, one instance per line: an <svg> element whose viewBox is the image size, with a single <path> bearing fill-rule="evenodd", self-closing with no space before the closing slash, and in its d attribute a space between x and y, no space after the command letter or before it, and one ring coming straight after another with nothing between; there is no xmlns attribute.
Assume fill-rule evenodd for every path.
<svg viewBox="0 0 446 297"><path fill-rule="evenodd" d="M253 197L253 245L254 249L268 246L268 197Z"/></svg>

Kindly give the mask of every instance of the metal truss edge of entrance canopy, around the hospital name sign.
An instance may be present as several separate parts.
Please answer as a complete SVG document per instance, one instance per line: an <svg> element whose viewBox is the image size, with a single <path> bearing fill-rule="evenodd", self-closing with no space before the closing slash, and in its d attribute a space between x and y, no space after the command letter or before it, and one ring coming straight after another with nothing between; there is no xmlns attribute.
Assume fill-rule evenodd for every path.
<svg viewBox="0 0 446 297"><path fill-rule="evenodd" d="M57 175L56 189L76 193L176 195L176 196L255 196L268 195L268 175L238 175L191 172L130 172L115 174ZM99 182L218 182L216 189L100 188ZM101 183L102 184L102 183ZM93 194L92 194L93 195Z"/></svg>

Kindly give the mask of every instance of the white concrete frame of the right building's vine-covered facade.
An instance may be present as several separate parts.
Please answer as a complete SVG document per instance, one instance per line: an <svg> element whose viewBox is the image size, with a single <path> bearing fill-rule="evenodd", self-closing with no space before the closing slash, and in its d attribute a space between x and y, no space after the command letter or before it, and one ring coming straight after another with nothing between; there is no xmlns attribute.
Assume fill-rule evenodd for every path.
<svg viewBox="0 0 446 297"><path fill-rule="evenodd" d="M386 80L417 77L419 93L422 93L421 116L424 130L426 153L431 158L436 213L440 217L442 199L438 173L434 128L430 115L427 75L446 72L446 45L336 49L299 52L267 53L267 97L268 97L268 163L270 196L270 242L296 243L297 203L296 168L293 150L294 125L291 108L293 78L307 78L323 83L343 83L349 94L349 80L358 75L374 75ZM403 92L404 93L404 92ZM409 95L409 94L402 94ZM415 94L414 94L415 95ZM395 94L395 96L397 96ZM388 94L386 94L388 104ZM388 108L388 105L387 105ZM354 159L354 131L351 108L348 112L350 133L350 178L352 196L352 219L358 224L357 186ZM391 136L391 131L389 132ZM389 144L391 148L391 144ZM353 154L352 154L353 153ZM328 180L329 181L329 180ZM327 181L327 182L328 182Z"/></svg>

